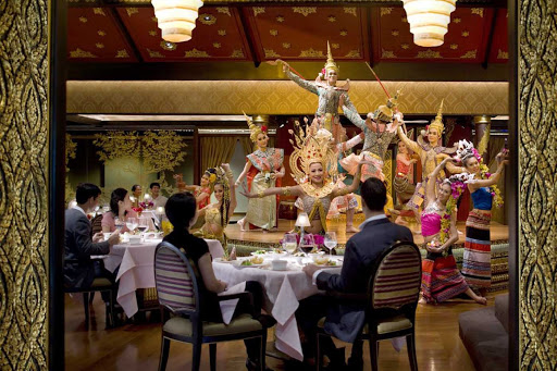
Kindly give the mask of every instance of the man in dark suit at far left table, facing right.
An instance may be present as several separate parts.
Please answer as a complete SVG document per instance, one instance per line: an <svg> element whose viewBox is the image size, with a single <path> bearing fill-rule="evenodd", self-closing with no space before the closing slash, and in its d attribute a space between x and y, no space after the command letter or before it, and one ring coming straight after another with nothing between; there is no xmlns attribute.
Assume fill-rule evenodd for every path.
<svg viewBox="0 0 557 371"><path fill-rule="evenodd" d="M77 186L77 205L65 211L64 284L67 287L87 288L97 277L113 281L113 274L104 269L94 255L107 255L110 247L119 242L116 231L102 242L102 233L91 238L91 222L87 213L99 203L100 189L95 184L82 183Z"/></svg>

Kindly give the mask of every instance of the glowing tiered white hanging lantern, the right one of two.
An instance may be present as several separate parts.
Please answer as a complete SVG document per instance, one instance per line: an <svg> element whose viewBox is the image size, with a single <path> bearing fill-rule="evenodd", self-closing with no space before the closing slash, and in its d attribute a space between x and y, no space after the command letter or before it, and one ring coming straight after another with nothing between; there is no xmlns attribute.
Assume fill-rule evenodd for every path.
<svg viewBox="0 0 557 371"><path fill-rule="evenodd" d="M410 33L417 46L443 45L456 2L456 0L403 0Z"/></svg>

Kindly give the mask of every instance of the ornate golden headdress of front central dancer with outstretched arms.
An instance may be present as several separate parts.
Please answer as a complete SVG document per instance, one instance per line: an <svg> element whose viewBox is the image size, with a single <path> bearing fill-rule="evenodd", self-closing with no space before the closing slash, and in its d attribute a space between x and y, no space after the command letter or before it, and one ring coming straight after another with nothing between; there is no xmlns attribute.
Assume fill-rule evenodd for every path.
<svg viewBox="0 0 557 371"><path fill-rule="evenodd" d="M320 128L317 133L312 133L309 125L304 129L298 121L294 123L294 131L288 132L295 139L290 139L294 151L289 163L292 177L296 183L300 184L305 181L309 174L309 165L315 162L320 162L330 176L337 173L336 154L331 147L333 143L331 132Z"/></svg>

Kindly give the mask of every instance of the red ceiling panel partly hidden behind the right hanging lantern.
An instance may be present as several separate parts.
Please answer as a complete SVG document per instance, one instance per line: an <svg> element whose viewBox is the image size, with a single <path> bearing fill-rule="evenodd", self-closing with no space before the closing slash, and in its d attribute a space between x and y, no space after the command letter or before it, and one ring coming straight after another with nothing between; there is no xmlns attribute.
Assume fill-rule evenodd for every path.
<svg viewBox="0 0 557 371"><path fill-rule="evenodd" d="M384 62L482 63L493 20L493 9L457 8L450 15L445 42L436 48L413 44L403 8L373 10L376 33L374 59Z"/></svg>

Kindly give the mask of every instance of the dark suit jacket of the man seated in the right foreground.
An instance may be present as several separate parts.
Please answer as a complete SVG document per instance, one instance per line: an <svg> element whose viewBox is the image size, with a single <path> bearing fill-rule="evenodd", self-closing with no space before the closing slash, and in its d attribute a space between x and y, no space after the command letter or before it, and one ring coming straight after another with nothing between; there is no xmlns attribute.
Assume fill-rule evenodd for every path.
<svg viewBox="0 0 557 371"><path fill-rule="evenodd" d="M346 244L341 274L321 272L317 276L320 289L349 294L366 294L373 264L380 255L397 240L413 242L406 226L391 223L388 219L368 222ZM325 322L325 331L335 337L354 343L366 323L366 305L333 305Z"/></svg>

